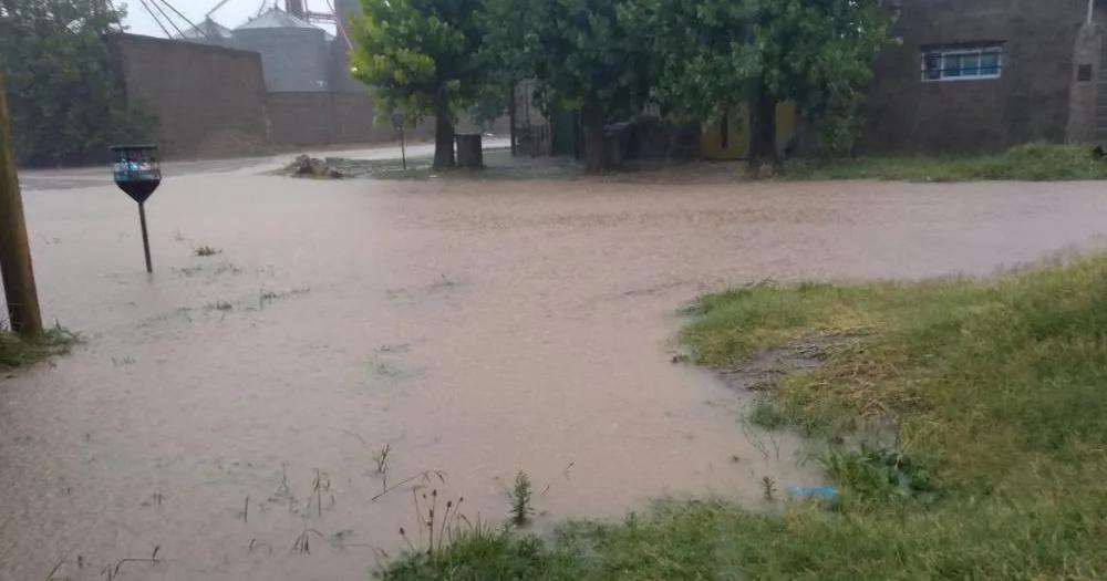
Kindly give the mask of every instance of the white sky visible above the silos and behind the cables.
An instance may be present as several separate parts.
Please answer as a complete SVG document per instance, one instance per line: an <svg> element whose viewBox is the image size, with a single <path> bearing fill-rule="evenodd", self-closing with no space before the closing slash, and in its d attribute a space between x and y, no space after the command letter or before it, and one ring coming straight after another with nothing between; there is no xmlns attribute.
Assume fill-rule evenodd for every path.
<svg viewBox="0 0 1107 581"><path fill-rule="evenodd" d="M206 14L208 10L211 10L216 4L219 3L219 0L168 0L168 1L170 4L173 4L174 8L176 8L183 14L188 17L188 20L192 20L194 23L199 23L201 20L204 20L204 14ZM246 22L248 19L256 17L259 12L259 9L261 9L262 6L266 9L272 7L273 1L275 0L227 0L227 3L224 4L223 8L220 8L214 14L211 14L211 20L215 20L216 22L229 29L234 29L235 27ZM276 1L279 2L281 8L284 8L284 2L282 0L276 0ZM333 0L331 0L331 2L333 4ZM157 12L157 9L155 9L153 4L149 3L149 0L146 0L146 3L149 4L152 9L154 9L155 13L157 13L158 18L161 19L162 14ZM146 9L138 0L126 0L125 2L116 1L116 6L126 7L127 18L124 19L123 23L130 27L130 30L127 30L127 32L131 32L132 34L146 34L148 37L165 38L165 33L162 32L162 29L157 27L157 24L154 22L154 19L151 18L149 13L146 12ZM304 0L304 6L307 7L308 10L312 12L330 12L330 9L327 7L327 0ZM174 22L178 27L180 27L180 30L185 30L188 28L188 24L186 24L183 20L180 20L180 18L174 14L170 10L164 7L163 9L169 15L173 17ZM328 30L332 33L334 32L334 27L331 24L315 23L315 25L324 30ZM169 29L170 33L176 34L176 30L174 30L172 27L166 24L166 28Z"/></svg>

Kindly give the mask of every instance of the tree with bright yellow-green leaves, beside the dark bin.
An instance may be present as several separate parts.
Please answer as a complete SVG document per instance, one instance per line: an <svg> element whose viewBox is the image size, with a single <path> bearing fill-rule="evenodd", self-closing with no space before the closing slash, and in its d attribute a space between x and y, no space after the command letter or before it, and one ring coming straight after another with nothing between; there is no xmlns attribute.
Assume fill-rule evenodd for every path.
<svg viewBox="0 0 1107 581"><path fill-rule="evenodd" d="M351 25L353 75L382 108L435 116L438 169L454 166L457 112L483 82L479 8L479 0L362 0Z"/></svg>

